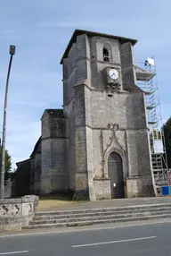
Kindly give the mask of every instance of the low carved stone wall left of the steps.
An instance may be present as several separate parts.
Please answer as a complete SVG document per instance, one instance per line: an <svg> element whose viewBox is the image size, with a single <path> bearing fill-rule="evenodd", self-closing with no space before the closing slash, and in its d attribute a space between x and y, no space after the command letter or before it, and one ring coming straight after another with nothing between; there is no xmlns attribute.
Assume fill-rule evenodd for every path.
<svg viewBox="0 0 171 256"><path fill-rule="evenodd" d="M28 226L37 205L38 197L35 195L0 201L0 232L20 230L21 226Z"/></svg>

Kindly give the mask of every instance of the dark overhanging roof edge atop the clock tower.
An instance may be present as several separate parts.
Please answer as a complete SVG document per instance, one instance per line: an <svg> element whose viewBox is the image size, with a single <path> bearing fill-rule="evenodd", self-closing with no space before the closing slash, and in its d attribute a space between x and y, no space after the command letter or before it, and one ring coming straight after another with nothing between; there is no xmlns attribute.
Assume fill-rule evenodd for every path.
<svg viewBox="0 0 171 256"><path fill-rule="evenodd" d="M114 36L114 35L98 33L98 32L89 31L89 30L75 30L74 33L72 34L72 37L69 40L68 47L66 48L64 54L61 57L61 63L60 64L62 64L63 59L67 57L67 55L69 53L70 47L77 41L77 36L80 36L82 34L86 34L89 38L97 36L97 37L102 37L102 38L118 39L121 42L121 44L125 43L125 42L131 42L133 46L137 42L137 40L133 39L133 38L123 38L123 37L118 37L118 36Z"/></svg>

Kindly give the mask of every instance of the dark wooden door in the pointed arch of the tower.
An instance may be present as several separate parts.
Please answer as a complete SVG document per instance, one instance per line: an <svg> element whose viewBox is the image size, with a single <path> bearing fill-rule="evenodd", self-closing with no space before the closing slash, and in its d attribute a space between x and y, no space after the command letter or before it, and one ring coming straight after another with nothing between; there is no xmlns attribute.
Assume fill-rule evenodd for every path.
<svg viewBox="0 0 171 256"><path fill-rule="evenodd" d="M122 158L116 152L111 152L108 158L108 174L110 176L111 198L124 198Z"/></svg>

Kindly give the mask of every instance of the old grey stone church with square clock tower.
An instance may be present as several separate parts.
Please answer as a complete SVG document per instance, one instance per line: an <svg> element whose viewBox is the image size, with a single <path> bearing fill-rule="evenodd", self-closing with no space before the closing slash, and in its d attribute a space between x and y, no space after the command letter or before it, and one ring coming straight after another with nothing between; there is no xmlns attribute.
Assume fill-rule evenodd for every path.
<svg viewBox="0 0 171 256"><path fill-rule="evenodd" d="M136 42L74 31L61 57L63 109L45 109L35 149L17 164L28 169L29 192L71 190L91 201L154 194Z"/></svg>

